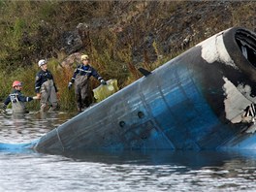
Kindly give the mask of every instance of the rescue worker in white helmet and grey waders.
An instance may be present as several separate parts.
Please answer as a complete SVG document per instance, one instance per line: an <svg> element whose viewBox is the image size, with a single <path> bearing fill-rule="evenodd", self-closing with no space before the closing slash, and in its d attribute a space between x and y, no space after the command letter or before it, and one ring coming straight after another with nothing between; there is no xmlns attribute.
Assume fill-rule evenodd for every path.
<svg viewBox="0 0 256 192"><path fill-rule="evenodd" d="M41 68L41 71L36 75L35 91L37 96L41 98L40 112L47 111L48 103L50 105L48 112L56 111L58 109L58 89L55 85L52 74L48 71L47 60L41 59L38 62L38 66Z"/></svg>

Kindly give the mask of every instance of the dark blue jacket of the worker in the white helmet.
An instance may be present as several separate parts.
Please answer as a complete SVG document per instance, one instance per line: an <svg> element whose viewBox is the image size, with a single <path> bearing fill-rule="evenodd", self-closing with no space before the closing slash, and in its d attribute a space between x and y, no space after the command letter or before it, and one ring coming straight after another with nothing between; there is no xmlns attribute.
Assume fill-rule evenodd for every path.
<svg viewBox="0 0 256 192"><path fill-rule="evenodd" d="M48 70L46 72L41 70L40 72L37 73L36 83L35 83L36 93L40 92L40 88L41 88L42 84L47 80L53 80L53 76ZM55 87L55 91L58 92L54 80L53 80L53 85Z"/></svg>

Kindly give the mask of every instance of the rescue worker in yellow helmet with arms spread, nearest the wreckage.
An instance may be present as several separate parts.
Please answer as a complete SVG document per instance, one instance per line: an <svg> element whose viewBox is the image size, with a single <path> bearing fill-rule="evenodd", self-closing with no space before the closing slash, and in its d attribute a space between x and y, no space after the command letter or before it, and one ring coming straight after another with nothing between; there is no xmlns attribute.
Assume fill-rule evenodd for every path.
<svg viewBox="0 0 256 192"><path fill-rule="evenodd" d="M107 84L105 80L98 74L98 72L89 64L89 56L83 54L80 56L82 62L76 68L68 88L72 87L75 82L75 94L77 99L77 108L79 112L84 111L93 103L93 92L90 85L90 77L93 76L99 80L101 84Z"/></svg>

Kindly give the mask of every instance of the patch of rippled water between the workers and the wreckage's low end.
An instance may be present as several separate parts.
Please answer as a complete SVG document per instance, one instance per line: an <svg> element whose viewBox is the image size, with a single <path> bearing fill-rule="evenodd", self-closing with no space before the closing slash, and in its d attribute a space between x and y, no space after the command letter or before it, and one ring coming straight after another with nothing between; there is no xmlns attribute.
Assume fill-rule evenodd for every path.
<svg viewBox="0 0 256 192"><path fill-rule="evenodd" d="M74 113L30 112L28 114L0 114L0 142L22 143L38 139L59 126Z"/></svg>

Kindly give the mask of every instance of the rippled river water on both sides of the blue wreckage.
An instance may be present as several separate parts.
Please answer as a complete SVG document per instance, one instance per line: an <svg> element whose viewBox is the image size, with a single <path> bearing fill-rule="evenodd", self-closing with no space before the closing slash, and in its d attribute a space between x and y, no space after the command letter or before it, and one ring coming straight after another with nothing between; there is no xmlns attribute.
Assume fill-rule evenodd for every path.
<svg viewBox="0 0 256 192"><path fill-rule="evenodd" d="M75 114L0 114L0 142L36 140ZM0 191L255 191L256 151L0 151Z"/></svg>

